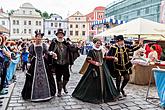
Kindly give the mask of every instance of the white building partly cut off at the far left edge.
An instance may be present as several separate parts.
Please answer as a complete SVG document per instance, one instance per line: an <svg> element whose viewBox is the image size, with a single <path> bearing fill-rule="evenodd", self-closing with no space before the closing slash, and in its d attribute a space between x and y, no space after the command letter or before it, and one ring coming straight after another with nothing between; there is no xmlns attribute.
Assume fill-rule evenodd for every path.
<svg viewBox="0 0 165 110"><path fill-rule="evenodd" d="M9 15L0 9L0 25L9 29Z"/></svg>

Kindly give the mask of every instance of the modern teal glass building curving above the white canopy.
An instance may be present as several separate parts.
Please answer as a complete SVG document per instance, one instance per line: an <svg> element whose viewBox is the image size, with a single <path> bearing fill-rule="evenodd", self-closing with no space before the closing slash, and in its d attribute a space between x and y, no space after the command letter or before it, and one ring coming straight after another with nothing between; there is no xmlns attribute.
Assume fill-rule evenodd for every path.
<svg viewBox="0 0 165 110"><path fill-rule="evenodd" d="M130 21L142 17L160 22L160 4L162 0L116 0L105 10L106 17Z"/></svg>

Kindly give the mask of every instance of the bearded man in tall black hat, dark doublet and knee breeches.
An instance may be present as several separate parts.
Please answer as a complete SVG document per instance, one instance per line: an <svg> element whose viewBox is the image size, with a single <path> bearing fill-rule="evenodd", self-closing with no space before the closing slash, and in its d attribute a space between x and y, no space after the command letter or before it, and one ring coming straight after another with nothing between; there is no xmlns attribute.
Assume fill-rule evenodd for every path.
<svg viewBox="0 0 165 110"><path fill-rule="evenodd" d="M66 84L69 81L69 65L73 65L73 57L70 42L64 39L65 33L63 29L58 29L57 38L53 39L49 51L52 54L52 67L55 68L56 82L58 88L58 97L61 97L62 88L65 93L68 93ZM63 76L63 80L61 80Z"/></svg>

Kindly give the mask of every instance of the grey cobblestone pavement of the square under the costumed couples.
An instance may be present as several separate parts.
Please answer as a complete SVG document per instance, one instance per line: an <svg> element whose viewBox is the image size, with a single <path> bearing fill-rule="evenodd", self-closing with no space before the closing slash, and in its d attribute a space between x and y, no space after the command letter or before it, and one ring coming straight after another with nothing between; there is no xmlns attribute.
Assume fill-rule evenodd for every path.
<svg viewBox="0 0 165 110"><path fill-rule="evenodd" d="M73 73L71 73L70 81L67 86L69 93L64 94L63 97L54 97L48 102L33 103L24 101L21 98L21 90L24 85L25 74L18 71L17 72L17 83L14 88L11 100L8 105L7 110L162 110L157 106L158 101L152 101L155 104L151 104L145 101L145 95L147 91L147 86L138 86L128 84L126 87L126 93L128 96L124 99L120 99L116 102L109 102L103 104L90 104L82 102L71 97L75 86L81 78L78 74L79 69L82 66L85 56L79 57L75 65L72 67ZM157 96L155 87L151 87L151 95Z"/></svg>

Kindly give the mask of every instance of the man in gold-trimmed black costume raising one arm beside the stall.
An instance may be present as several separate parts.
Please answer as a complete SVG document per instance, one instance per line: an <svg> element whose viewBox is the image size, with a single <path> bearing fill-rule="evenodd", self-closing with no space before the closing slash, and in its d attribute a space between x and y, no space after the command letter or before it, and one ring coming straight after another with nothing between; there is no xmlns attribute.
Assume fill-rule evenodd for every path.
<svg viewBox="0 0 165 110"><path fill-rule="evenodd" d="M116 44L113 45L109 52L108 56L114 56L118 58L117 62L108 61L107 65L110 69L110 73L113 77L116 78L116 87L119 92L126 97L124 87L127 85L130 76L132 73L131 67L132 63L130 62L129 52L133 52L139 49L142 46L143 41L141 40L138 45L131 46L124 44L124 38L122 35L115 36ZM112 66L113 65L113 66ZM123 76L124 80L120 87L121 77Z"/></svg>

